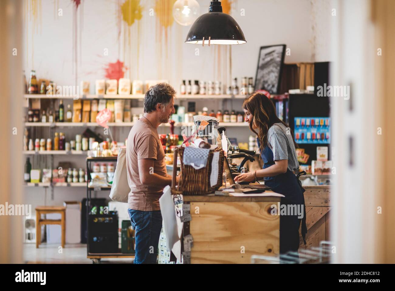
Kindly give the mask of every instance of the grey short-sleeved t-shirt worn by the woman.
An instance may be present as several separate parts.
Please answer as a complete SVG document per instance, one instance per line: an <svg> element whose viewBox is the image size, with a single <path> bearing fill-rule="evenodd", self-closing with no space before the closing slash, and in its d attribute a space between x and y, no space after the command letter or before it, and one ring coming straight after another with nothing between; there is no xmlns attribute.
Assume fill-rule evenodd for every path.
<svg viewBox="0 0 395 291"><path fill-rule="evenodd" d="M288 134L287 134L288 133ZM273 158L277 160L288 160L288 169L295 171L299 169L295 145L291 131L282 123L275 123L267 132L267 142L273 151Z"/></svg>

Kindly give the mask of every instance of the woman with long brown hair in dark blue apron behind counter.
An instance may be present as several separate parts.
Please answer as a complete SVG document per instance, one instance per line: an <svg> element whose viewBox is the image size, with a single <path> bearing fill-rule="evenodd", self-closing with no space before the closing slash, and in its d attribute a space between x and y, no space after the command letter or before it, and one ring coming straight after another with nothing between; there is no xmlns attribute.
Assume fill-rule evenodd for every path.
<svg viewBox="0 0 395 291"><path fill-rule="evenodd" d="M265 185L285 196L281 198L281 208L286 205L286 209L300 210L299 214L294 213L295 211L290 211L293 213L287 211L286 215L282 215L283 212L277 209L280 212L280 253L297 252L301 222L304 242L307 227L303 197L305 190L295 176L299 163L293 132L277 117L272 101L261 93L255 92L248 97L243 103L243 109L246 115L245 121L249 123L251 131L258 136L257 143L263 160L263 168L242 173L235 177L235 181L237 183L252 182L263 178Z"/></svg>

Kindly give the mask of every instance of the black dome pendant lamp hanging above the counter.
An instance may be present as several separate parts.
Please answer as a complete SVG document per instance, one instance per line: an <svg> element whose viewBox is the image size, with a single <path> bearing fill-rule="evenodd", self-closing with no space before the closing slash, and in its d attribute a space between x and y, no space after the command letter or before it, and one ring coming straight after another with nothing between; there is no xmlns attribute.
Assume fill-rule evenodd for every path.
<svg viewBox="0 0 395 291"><path fill-rule="evenodd" d="M187 44L245 44L240 26L229 14L222 13L221 2L210 2L209 12L195 20L186 36Z"/></svg>

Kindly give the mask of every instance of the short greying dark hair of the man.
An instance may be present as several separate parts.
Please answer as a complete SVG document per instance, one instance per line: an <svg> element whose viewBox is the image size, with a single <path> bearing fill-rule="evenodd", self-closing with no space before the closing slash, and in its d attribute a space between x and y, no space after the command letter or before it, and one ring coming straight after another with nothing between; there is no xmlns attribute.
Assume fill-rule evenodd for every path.
<svg viewBox="0 0 395 291"><path fill-rule="evenodd" d="M167 83L160 83L151 86L145 93L144 112L152 112L156 110L158 103L167 105L171 97L175 97L175 90Z"/></svg>

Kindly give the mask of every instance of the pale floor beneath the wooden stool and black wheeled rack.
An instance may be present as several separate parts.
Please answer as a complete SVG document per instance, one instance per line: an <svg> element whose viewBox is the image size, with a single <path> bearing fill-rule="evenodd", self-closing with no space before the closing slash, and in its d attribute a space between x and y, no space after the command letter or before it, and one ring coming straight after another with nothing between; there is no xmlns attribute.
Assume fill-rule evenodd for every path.
<svg viewBox="0 0 395 291"><path fill-rule="evenodd" d="M87 245L83 243L66 244L63 249L57 244L41 243L36 249L36 243L23 245L24 262L26 264L92 264L87 259ZM102 259L101 263L130 264L133 259Z"/></svg>

